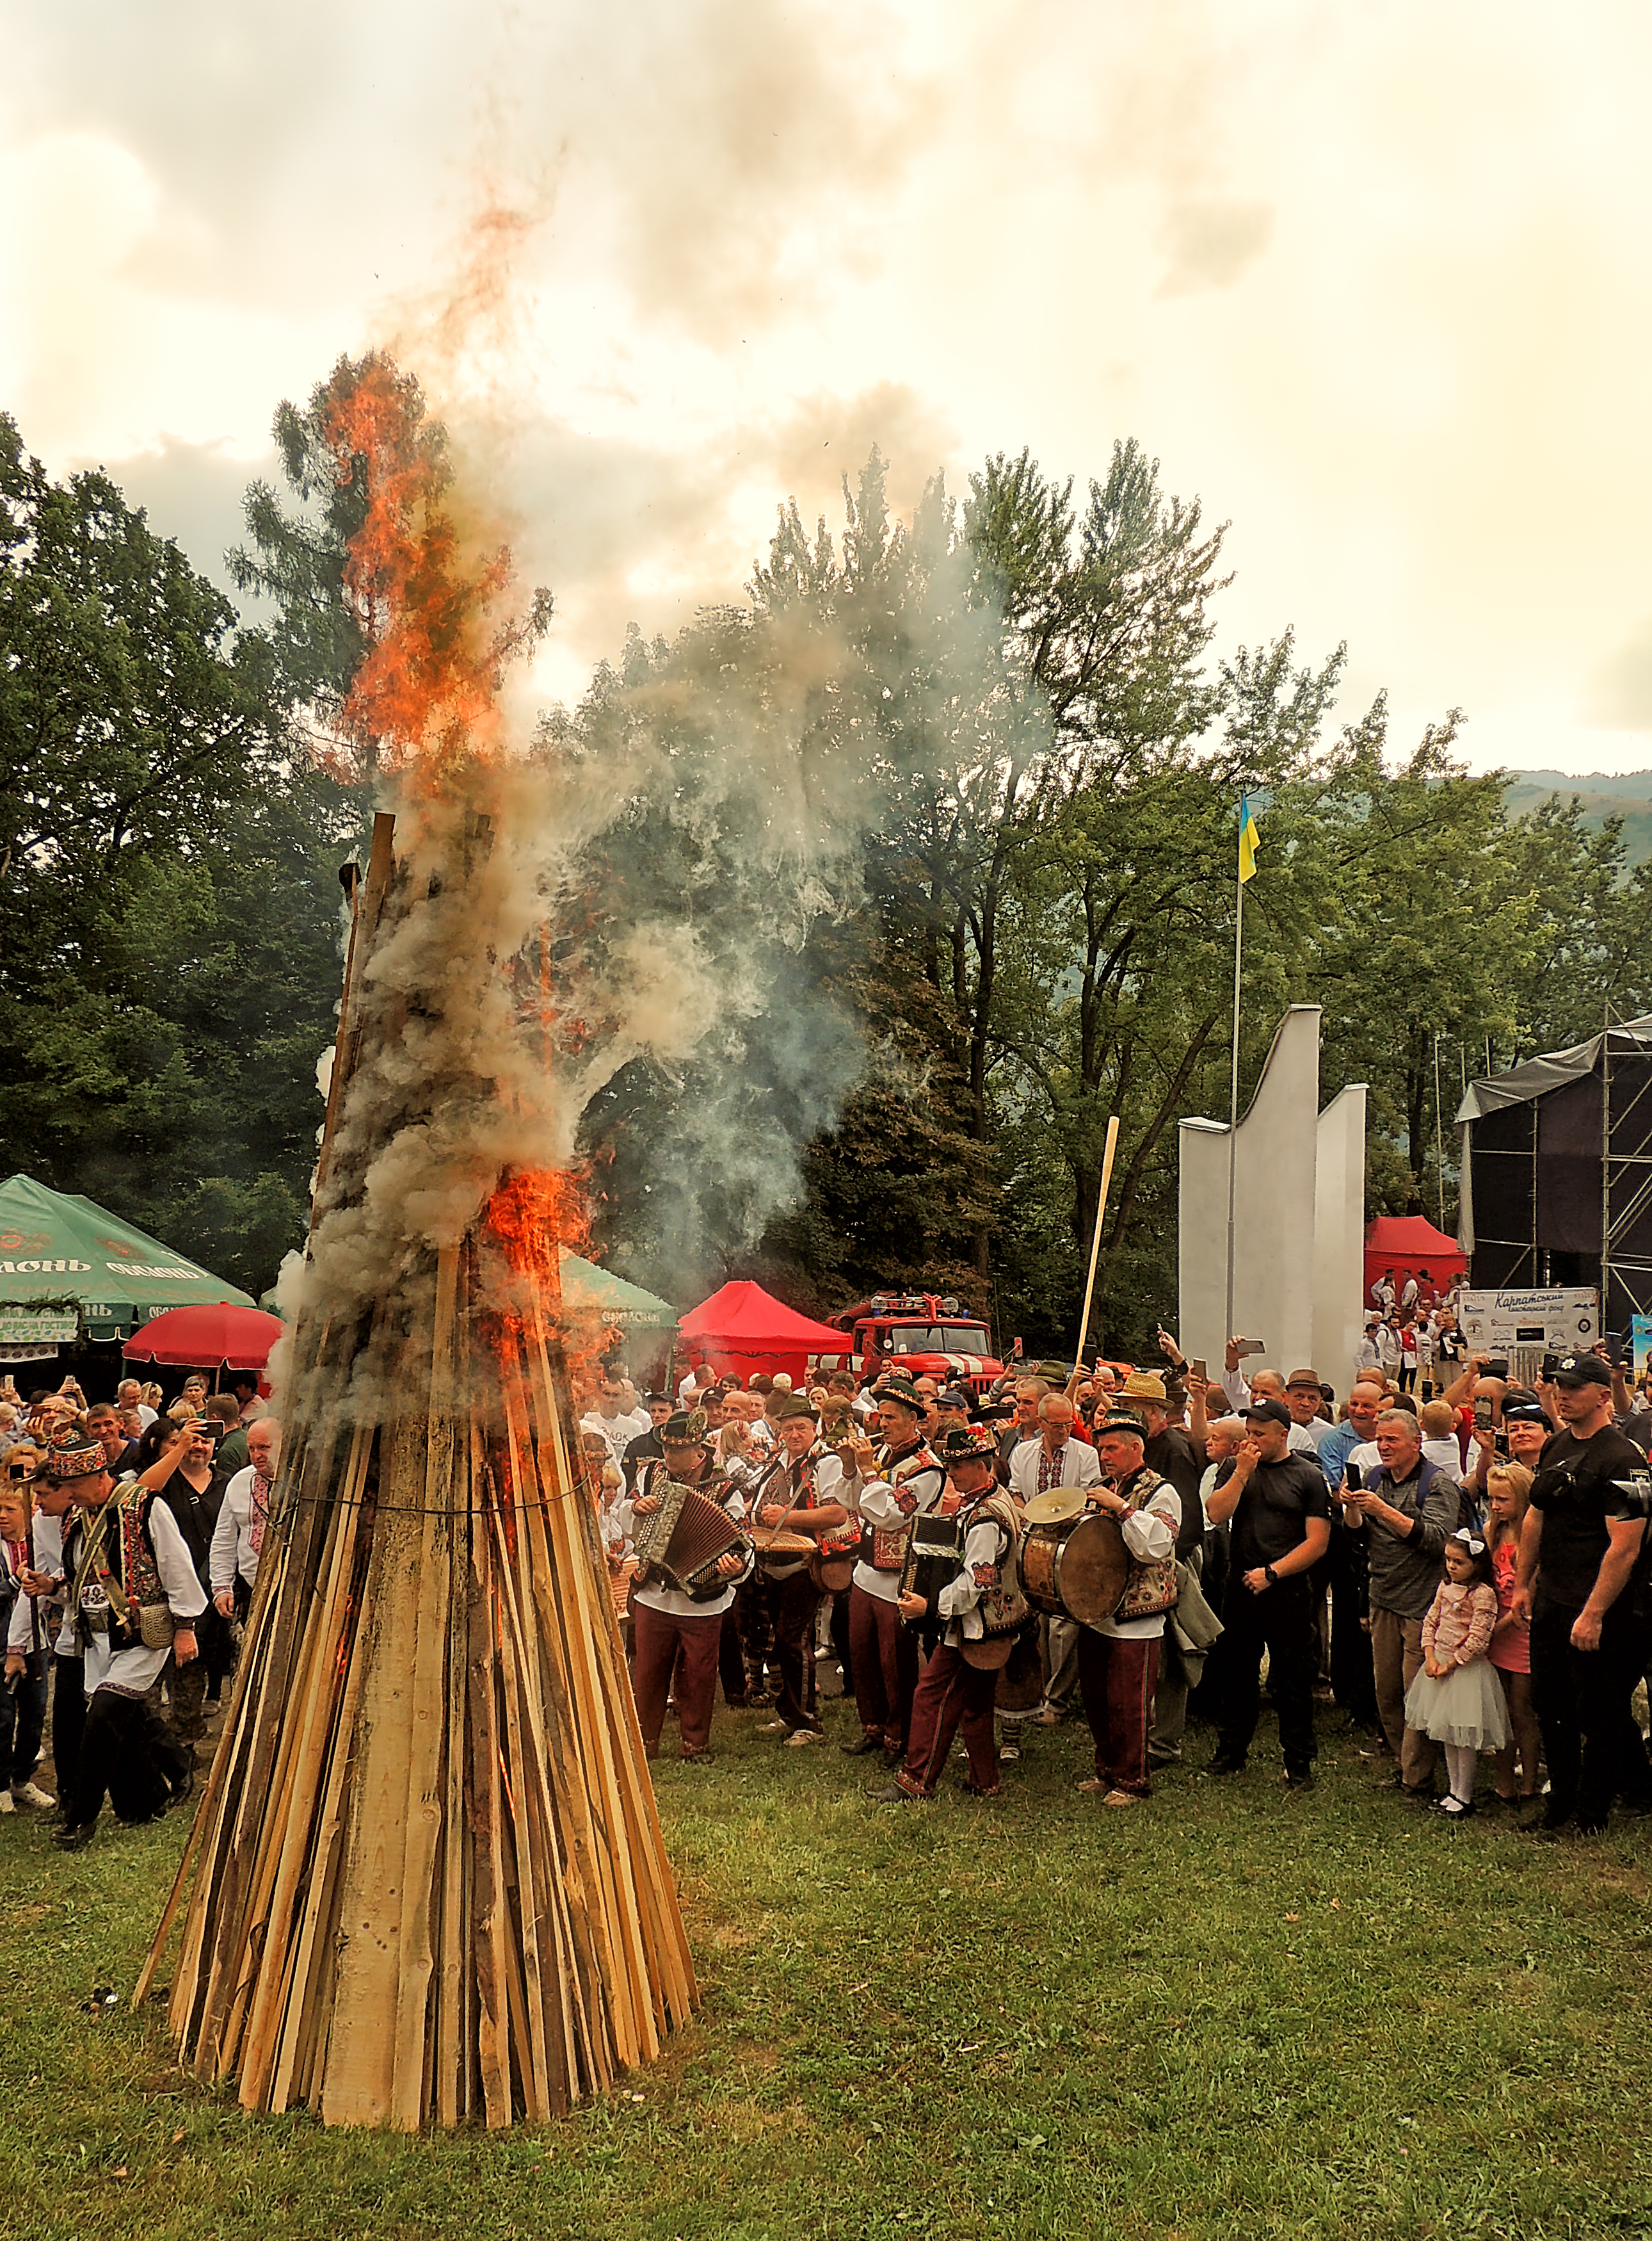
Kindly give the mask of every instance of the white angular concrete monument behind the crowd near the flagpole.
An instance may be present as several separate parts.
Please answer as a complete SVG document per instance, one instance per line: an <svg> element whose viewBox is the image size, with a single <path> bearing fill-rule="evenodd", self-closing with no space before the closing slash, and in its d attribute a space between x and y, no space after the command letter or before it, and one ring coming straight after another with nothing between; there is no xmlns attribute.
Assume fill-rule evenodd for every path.
<svg viewBox="0 0 1652 2241"><path fill-rule="evenodd" d="M1181 1351L1222 1369L1228 1284L1228 1125L1181 1123ZM1320 1008L1293 1004L1235 1136L1233 1322L1260 1338L1246 1369L1309 1363L1347 1392L1365 1284L1365 1085L1320 1112Z"/></svg>

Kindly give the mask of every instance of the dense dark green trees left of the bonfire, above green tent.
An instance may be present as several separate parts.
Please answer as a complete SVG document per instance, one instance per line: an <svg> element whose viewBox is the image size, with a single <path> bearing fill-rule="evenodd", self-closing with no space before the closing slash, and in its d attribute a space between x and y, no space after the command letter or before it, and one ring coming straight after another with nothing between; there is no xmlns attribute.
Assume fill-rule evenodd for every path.
<svg viewBox="0 0 1652 2241"><path fill-rule="evenodd" d="M347 813L233 625L0 419L0 1161L260 1291L303 1235Z"/></svg>

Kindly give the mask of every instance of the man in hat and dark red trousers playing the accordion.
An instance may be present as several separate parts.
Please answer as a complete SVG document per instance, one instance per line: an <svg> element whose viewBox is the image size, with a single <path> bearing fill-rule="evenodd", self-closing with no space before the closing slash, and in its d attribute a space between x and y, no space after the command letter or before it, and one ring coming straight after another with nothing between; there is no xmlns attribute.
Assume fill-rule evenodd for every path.
<svg viewBox="0 0 1652 2241"><path fill-rule="evenodd" d="M717 1501L728 1517L740 1522L744 1501L728 1486L728 1479L713 1470L702 1410L668 1416L659 1428L659 1445L663 1454L643 1461L637 1490L614 1506L614 1526L621 1535L634 1537L637 1522L659 1510L670 1486L693 1486L706 1501ZM695 1596L672 1587L657 1564L637 1573L632 1690L643 1750L650 1759L659 1757L659 1730L666 1723L672 1674L679 1757L699 1761L711 1757L711 1708L717 1696L724 1616L733 1609L740 1582L751 1575L751 1542L742 1542L737 1551L731 1549L717 1560L715 1582Z"/></svg>

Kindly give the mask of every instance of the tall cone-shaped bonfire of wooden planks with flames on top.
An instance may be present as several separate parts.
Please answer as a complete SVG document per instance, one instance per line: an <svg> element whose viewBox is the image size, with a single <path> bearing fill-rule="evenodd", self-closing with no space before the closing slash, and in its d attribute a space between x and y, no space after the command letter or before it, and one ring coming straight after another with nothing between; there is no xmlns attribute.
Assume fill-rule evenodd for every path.
<svg viewBox="0 0 1652 2241"><path fill-rule="evenodd" d="M148 1977L184 2059L330 2124L547 2118L659 2053L693 1968L567 1443L554 943L509 845L509 562L417 390L336 383L365 477L345 708L395 773L354 894L287 1450L235 1703ZM560 1132L560 1134L558 1134Z"/></svg>

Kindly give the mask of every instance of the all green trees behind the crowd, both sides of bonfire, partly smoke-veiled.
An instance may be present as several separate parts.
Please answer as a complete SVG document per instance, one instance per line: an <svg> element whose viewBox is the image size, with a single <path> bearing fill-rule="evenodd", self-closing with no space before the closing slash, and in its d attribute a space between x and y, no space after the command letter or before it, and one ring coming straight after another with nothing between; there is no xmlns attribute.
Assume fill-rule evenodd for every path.
<svg viewBox="0 0 1652 2241"><path fill-rule="evenodd" d="M282 406L291 495L249 493L260 627L105 477L52 484L0 424L0 1156L249 1289L303 1235L336 863L368 807L309 753L368 652L341 372ZM632 634L547 715L533 753L616 773L547 955L590 966L648 923L697 1029L585 1112L616 1268L684 1304L758 1275L807 1311L930 1284L1058 1349L1119 1114L1101 1315L1148 1347L1175 1125L1226 1112L1240 784L1244 1085L1284 1006L1320 1004L1322 1096L1372 1089L1372 1212L1439 1215L1444 1181L1453 1219L1461 1064L1652 1004L1618 829L1509 818L1450 713L1414 746L1381 699L1334 726L1343 654L1305 661L1289 627L1215 659L1219 560L1134 444L1083 498L993 457L910 522L874 453L836 536L782 506L742 601Z"/></svg>

